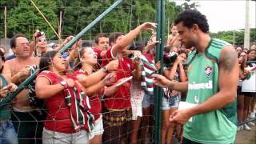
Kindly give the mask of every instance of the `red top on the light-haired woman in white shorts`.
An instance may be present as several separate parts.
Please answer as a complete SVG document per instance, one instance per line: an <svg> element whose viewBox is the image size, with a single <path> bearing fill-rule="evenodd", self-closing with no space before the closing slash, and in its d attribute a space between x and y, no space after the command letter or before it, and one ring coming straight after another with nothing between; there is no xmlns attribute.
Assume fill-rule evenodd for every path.
<svg viewBox="0 0 256 144"><path fill-rule="evenodd" d="M76 70L74 74L83 74L88 75L84 70ZM101 95L104 94L104 88L98 91L97 94L89 97L91 109L89 110L91 114L94 114L94 121L97 121L102 114L102 103L101 103Z"/></svg>

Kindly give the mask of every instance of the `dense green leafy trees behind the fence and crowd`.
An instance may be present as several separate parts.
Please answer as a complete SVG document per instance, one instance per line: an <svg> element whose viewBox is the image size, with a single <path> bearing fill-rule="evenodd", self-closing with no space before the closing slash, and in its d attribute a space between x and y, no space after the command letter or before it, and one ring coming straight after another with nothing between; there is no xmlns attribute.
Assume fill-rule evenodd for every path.
<svg viewBox="0 0 256 144"><path fill-rule="evenodd" d="M58 30L58 18L60 12L62 12L62 35L66 37L67 35L78 34L99 14L102 14L104 10L111 6L114 0L34 0L34 2L56 31ZM31 38L34 30L37 29L44 31L48 38L56 38L53 30L50 29L50 26L46 24L29 0L1 0L1 6L8 6L8 38L18 33L26 34L28 38ZM157 1L155 0L126 0L106 15L102 22L94 26L90 30L90 34L85 34L83 38L91 39L98 33L109 34L116 31L127 33L143 22L155 22L156 6ZM175 2L166 0L166 26L171 24L182 10L186 9L196 9L196 5L189 5L185 2L182 6L176 6ZM2 17L1 15L0 20L3 23ZM3 24L1 28L3 28ZM166 30L168 29L166 28ZM147 35L141 34L140 38L142 39L145 36ZM0 30L0 38L2 37L3 30Z"/></svg>

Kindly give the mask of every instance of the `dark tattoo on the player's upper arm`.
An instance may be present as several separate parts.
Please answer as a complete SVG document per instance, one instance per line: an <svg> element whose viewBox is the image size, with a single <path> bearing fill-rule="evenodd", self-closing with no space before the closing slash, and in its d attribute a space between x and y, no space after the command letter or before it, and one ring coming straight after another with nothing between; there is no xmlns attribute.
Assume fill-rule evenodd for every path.
<svg viewBox="0 0 256 144"><path fill-rule="evenodd" d="M233 70L235 63L237 62L238 54L234 50L227 50L221 58L220 66L222 70L230 72Z"/></svg>

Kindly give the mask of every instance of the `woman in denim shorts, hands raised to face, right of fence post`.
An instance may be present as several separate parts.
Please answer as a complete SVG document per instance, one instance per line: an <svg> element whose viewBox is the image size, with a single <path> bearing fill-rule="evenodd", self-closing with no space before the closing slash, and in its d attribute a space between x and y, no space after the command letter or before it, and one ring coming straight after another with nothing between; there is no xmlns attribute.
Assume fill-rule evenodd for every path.
<svg viewBox="0 0 256 144"><path fill-rule="evenodd" d="M175 48L175 46L173 46ZM175 49L176 50L176 49ZM174 51L171 49L171 51ZM178 51L175 51L176 53ZM175 62L172 63L171 68L164 68L164 75L172 81L186 82L186 74L184 72L182 62L186 61L186 52L178 55ZM164 89L164 96L162 97L162 143L171 143L174 134L174 123L169 121L170 115L178 110L178 104L181 99L180 92L176 90ZM178 129L178 133L181 128ZM178 134L179 136L180 134Z"/></svg>

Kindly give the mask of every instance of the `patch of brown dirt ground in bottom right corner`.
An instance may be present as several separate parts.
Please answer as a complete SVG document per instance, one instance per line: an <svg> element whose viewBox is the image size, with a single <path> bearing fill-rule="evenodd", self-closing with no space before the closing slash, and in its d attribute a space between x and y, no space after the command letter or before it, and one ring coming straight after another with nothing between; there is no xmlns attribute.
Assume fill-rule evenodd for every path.
<svg viewBox="0 0 256 144"><path fill-rule="evenodd" d="M256 126L252 126L250 131L238 131L236 144L256 144Z"/></svg>

